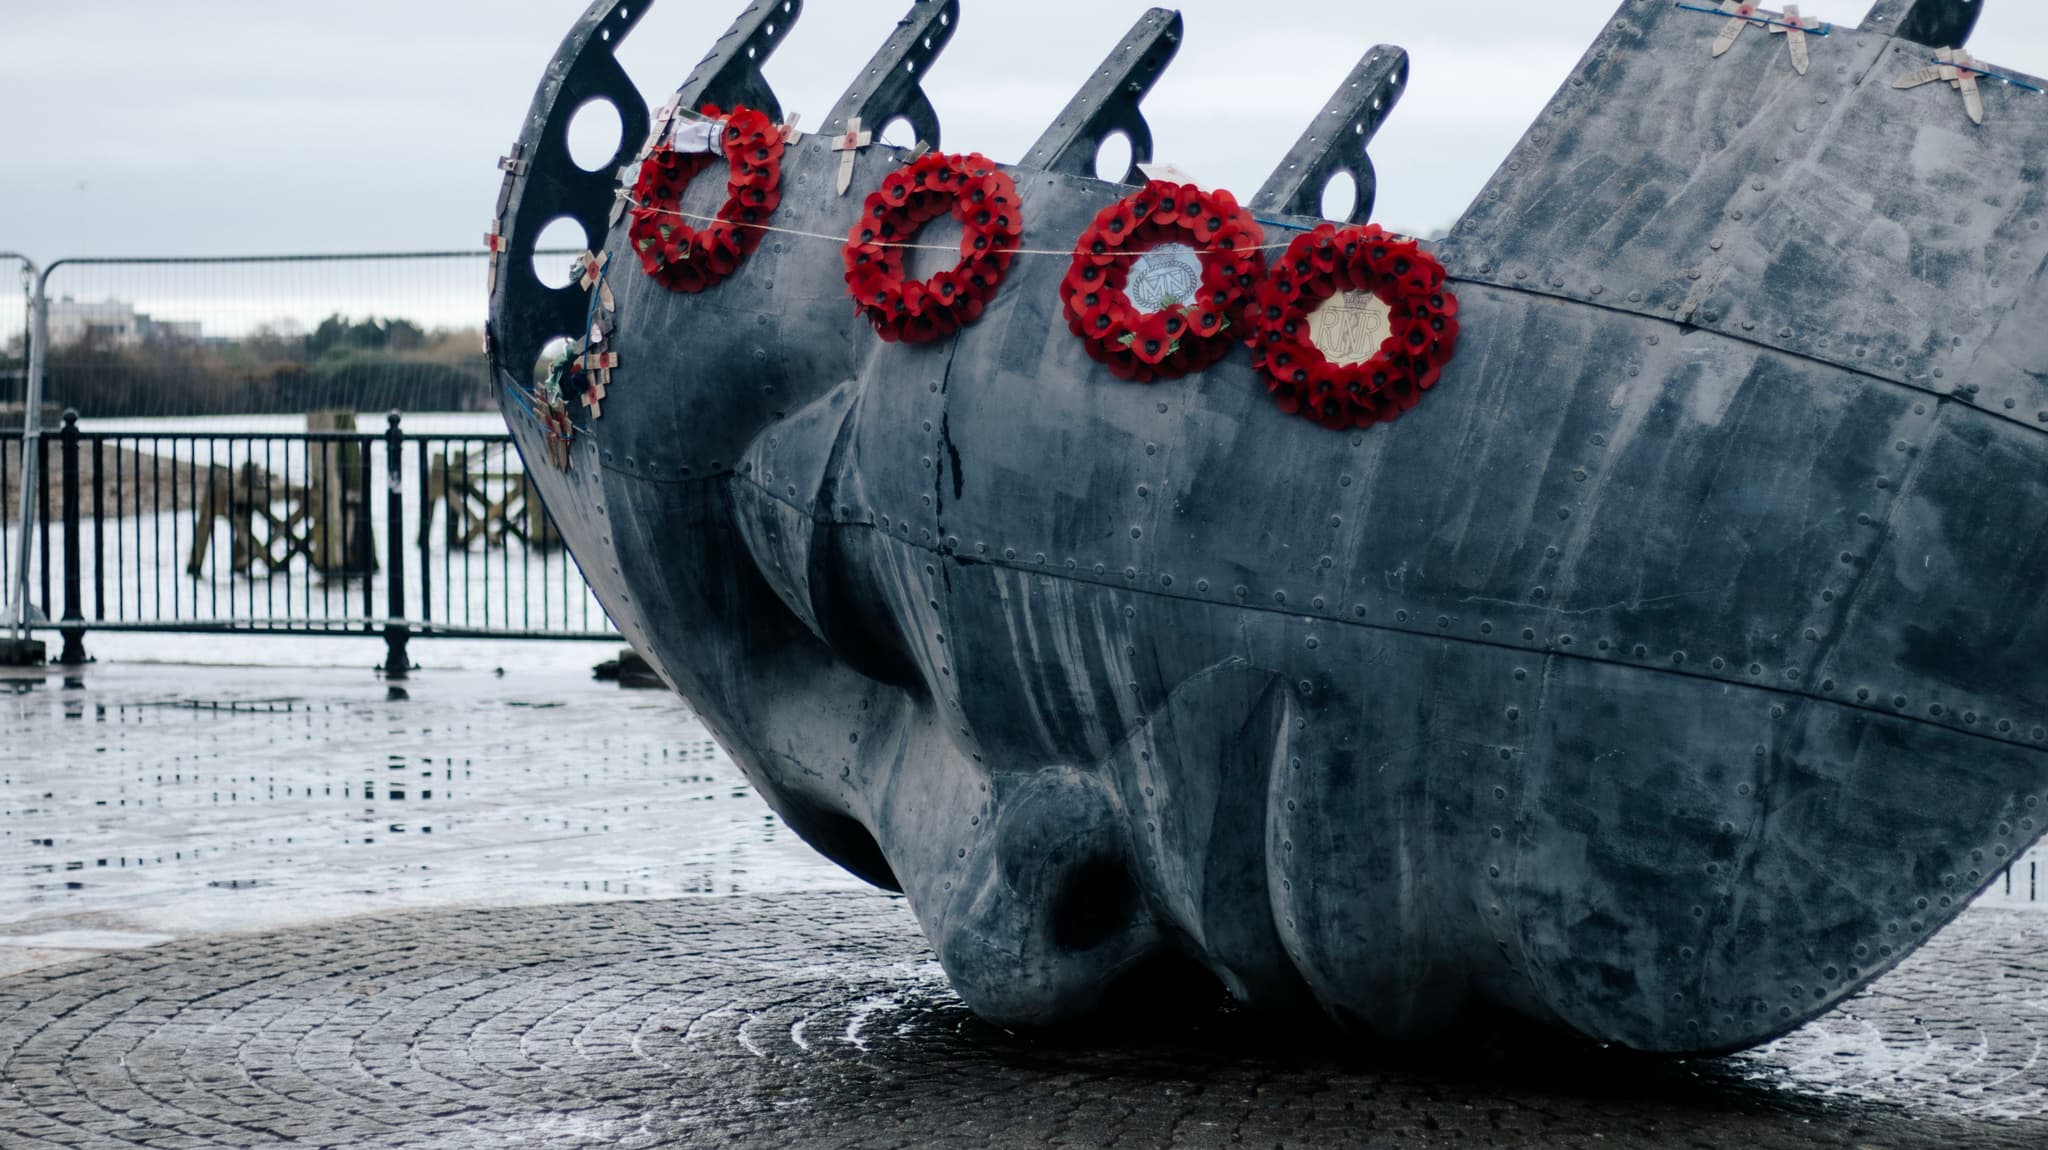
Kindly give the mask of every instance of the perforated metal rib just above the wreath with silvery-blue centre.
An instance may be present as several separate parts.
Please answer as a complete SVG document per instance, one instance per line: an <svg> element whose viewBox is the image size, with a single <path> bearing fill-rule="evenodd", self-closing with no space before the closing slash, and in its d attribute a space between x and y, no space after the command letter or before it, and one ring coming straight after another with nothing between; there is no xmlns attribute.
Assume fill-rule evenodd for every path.
<svg viewBox="0 0 2048 1150"><path fill-rule="evenodd" d="M1153 158L1151 125L1139 104L1153 90L1165 65L1180 53L1182 18L1171 8L1153 8L1139 16L1124 43L1102 61L1102 68L1075 92L1067 110L1044 129L1038 143L1024 153L1028 168L1067 176L1114 178L1124 184L1139 180L1139 164ZM1108 176L1096 170L1102 141L1122 133L1130 141L1130 170Z"/></svg>

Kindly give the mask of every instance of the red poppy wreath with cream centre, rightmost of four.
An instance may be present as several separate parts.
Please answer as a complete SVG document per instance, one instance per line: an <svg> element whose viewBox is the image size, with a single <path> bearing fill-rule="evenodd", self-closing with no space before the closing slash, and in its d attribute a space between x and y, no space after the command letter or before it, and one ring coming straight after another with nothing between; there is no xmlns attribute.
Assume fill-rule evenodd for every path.
<svg viewBox="0 0 2048 1150"><path fill-rule="evenodd" d="M1391 334L1362 362L1331 362L1309 315L1354 291L1386 305ZM1458 344L1458 297L1444 286L1444 264L1413 239L1325 223L1296 237L1260 284L1253 327L1257 366L1282 411L1325 428L1368 428L1436 387Z"/></svg>

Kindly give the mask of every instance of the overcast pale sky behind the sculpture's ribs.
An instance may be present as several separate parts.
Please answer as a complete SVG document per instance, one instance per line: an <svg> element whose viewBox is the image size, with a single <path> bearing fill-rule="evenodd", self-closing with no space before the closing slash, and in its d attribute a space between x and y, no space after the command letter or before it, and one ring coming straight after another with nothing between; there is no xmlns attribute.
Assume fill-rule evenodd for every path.
<svg viewBox="0 0 2048 1150"><path fill-rule="evenodd" d="M1972 49L2048 72L2048 4L1985 0ZM768 68L815 127L907 0L809 0ZM1616 0L1188 0L1147 113L1169 160L1253 192L1374 43L1413 82L1374 145L1378 219L1456 219ZM584 0L0 0L0 250L475 248L496 158ZM623 57L666 98L741 0L651 0ZM1147 8L965 0L928 80L946 147L1016 160ZM1866 0L1808 0L1855 23ZM1702 16L1702 20L1708 20ZM1702 29L1704 37L1704 29ZM1704 39L1702 39L1704 51Z"/></svg>

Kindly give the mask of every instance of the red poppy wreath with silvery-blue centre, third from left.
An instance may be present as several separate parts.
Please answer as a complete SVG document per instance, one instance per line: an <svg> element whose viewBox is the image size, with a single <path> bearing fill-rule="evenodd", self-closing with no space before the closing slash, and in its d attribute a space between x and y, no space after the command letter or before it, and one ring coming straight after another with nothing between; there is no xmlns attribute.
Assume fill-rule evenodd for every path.
<svg viewBox="0 0 2048 1150"><path fill-rule="evenodd" d="M1059 286L1067 325L1118 379L1198 372L1243 334L1264 241L1231 192L1153 180L1102 209L1075 244Z"/></svg>

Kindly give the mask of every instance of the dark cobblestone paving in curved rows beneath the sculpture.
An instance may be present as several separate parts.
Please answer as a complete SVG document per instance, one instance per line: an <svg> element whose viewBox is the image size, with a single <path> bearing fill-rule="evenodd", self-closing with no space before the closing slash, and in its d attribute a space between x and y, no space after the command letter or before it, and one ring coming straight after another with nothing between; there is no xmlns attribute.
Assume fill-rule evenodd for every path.
<svg viewBox="0 0 2048 1150"><path fill-rule="evenodd" d="M0 978L0 1144L2042 1146L2048 917L1974 909L1769 1048L1022 1037L899 900L432 911ZM1167 1027L1149 1027L1161 1033Z"/></svg>

